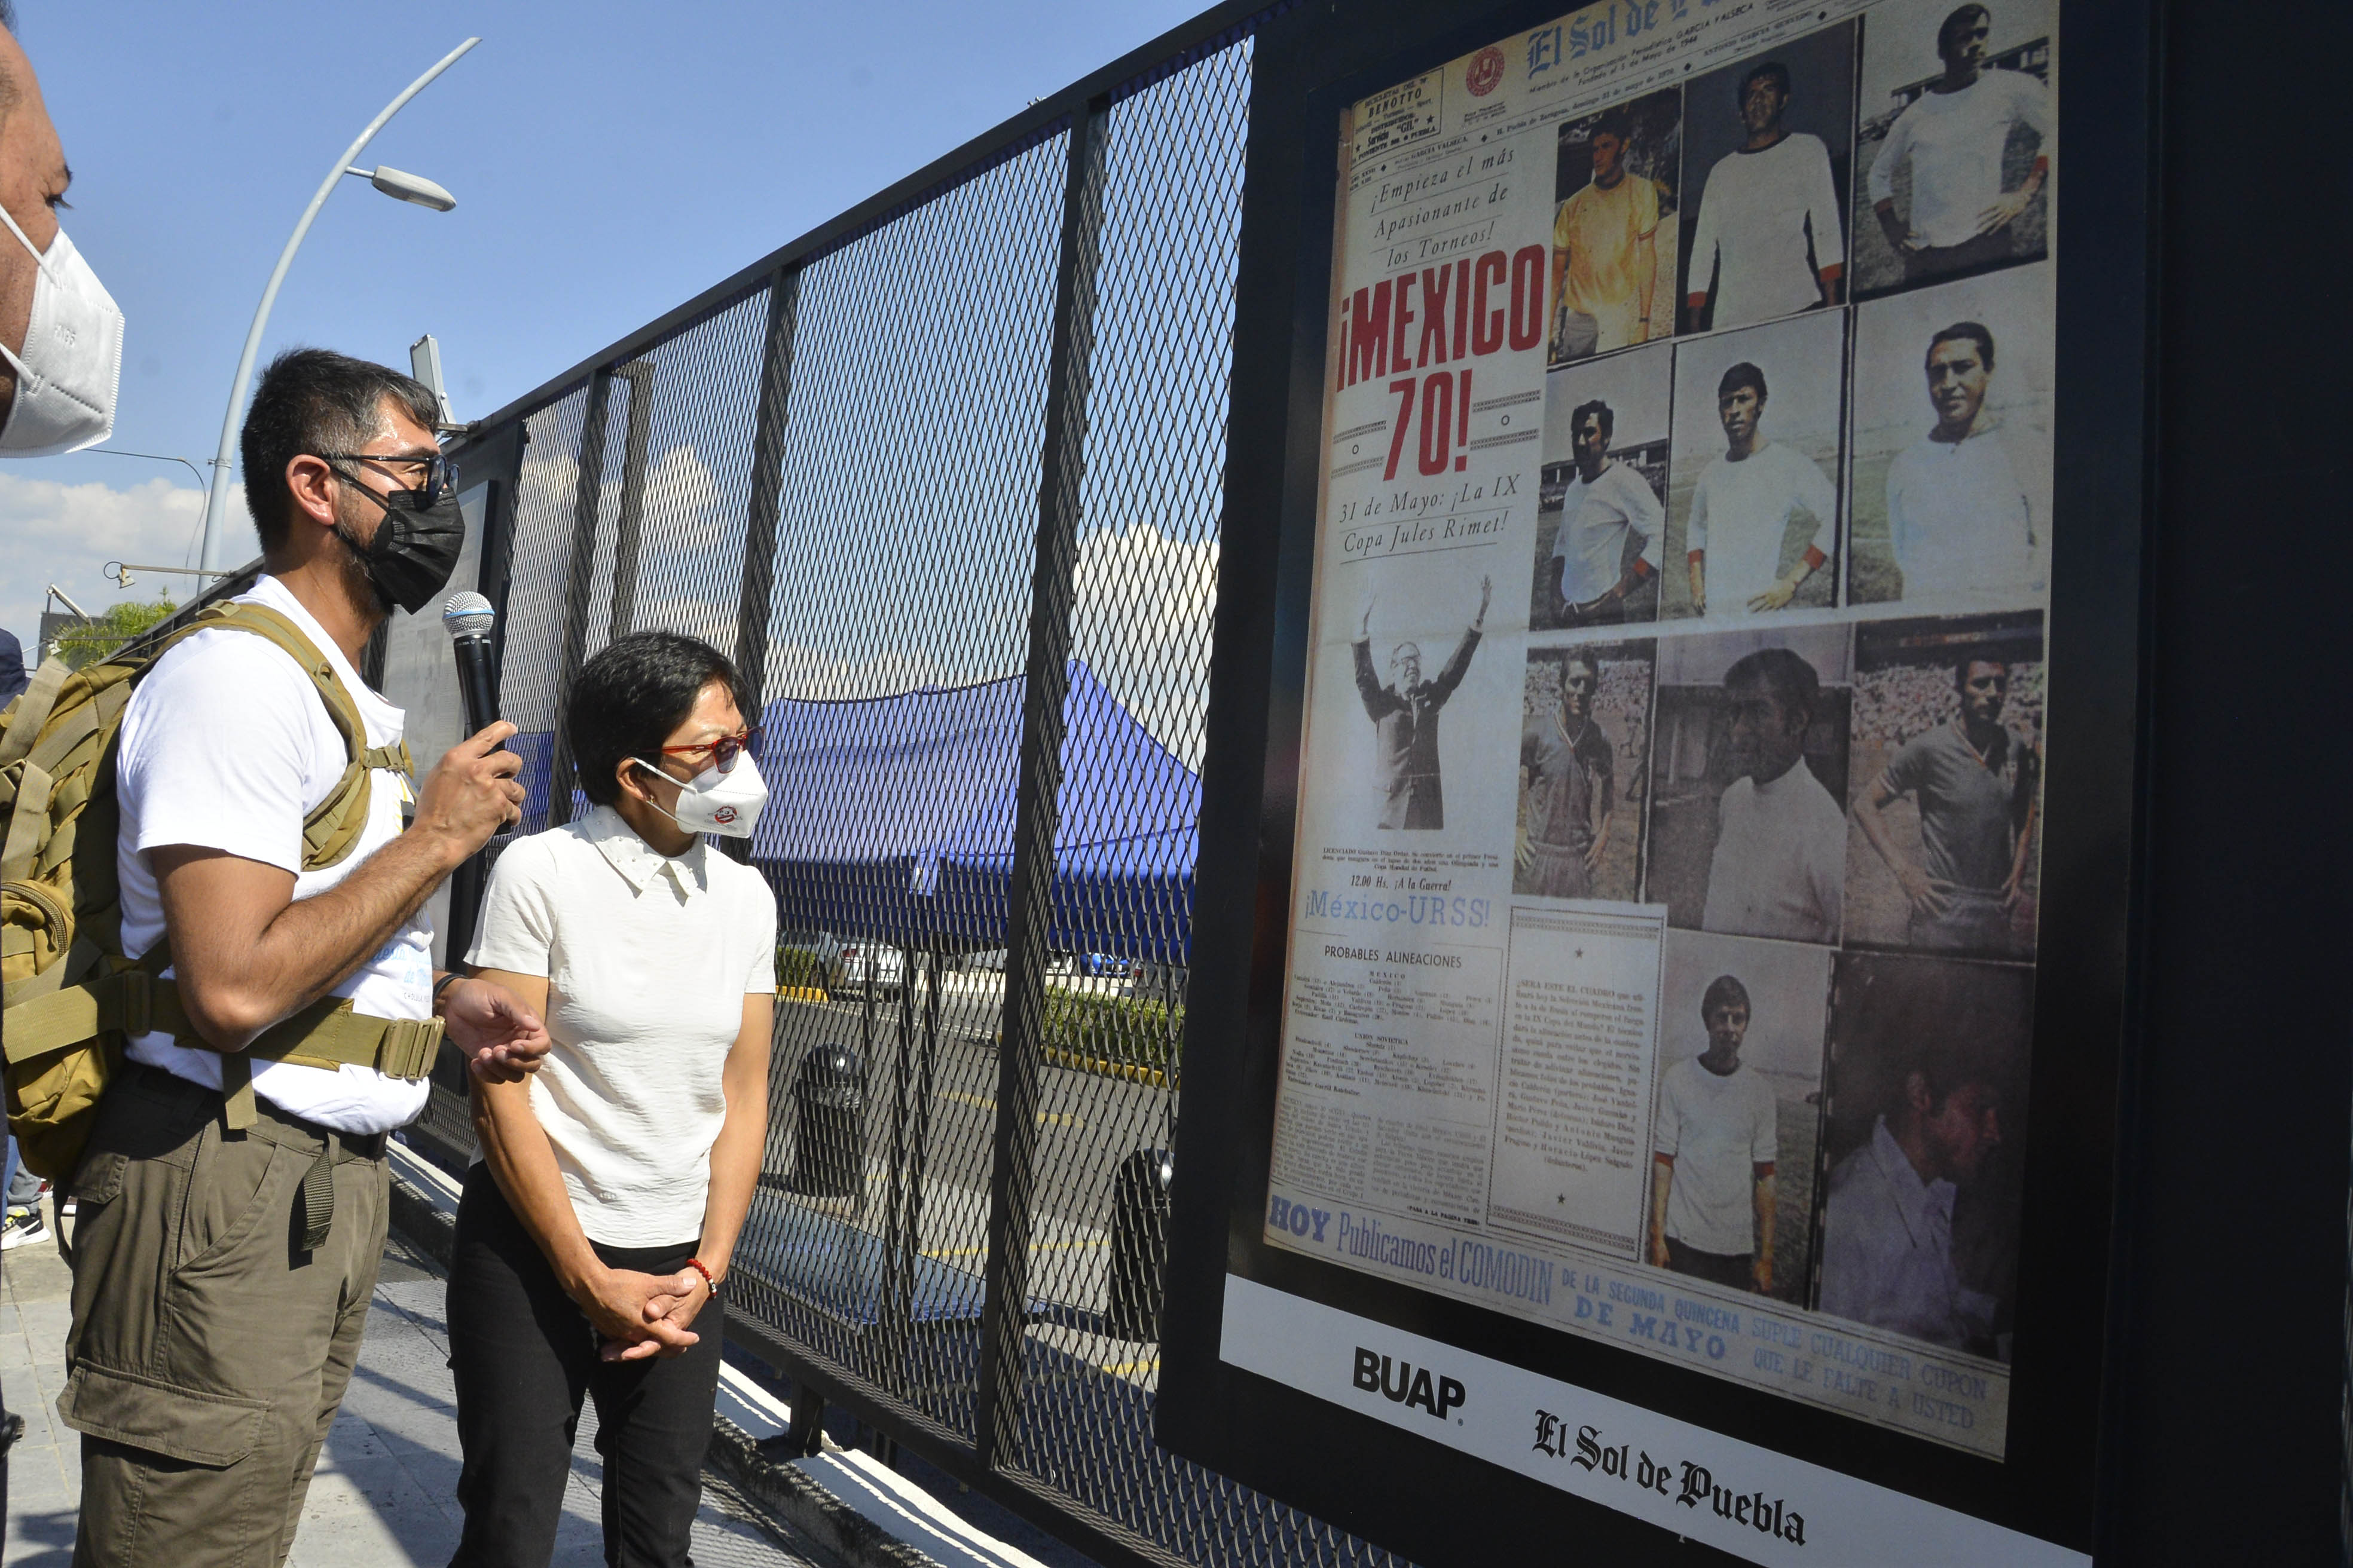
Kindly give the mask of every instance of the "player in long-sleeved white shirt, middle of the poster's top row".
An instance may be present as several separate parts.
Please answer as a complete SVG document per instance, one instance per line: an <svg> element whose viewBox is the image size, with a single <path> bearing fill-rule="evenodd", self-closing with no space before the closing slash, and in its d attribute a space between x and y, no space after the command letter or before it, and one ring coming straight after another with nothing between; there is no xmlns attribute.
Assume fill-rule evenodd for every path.
<svg viewBox="0 0 2353 1568"><path fill-rule="evenodd" d="M1835 306L1847 275L1831 148L1784 129L1788 66L1765 61L1741 78L1748 141L1708 169L1692 237L1689 329L1748 327L1812 306ZM1708 277L1715 315L1708 317Z"/></svg>

